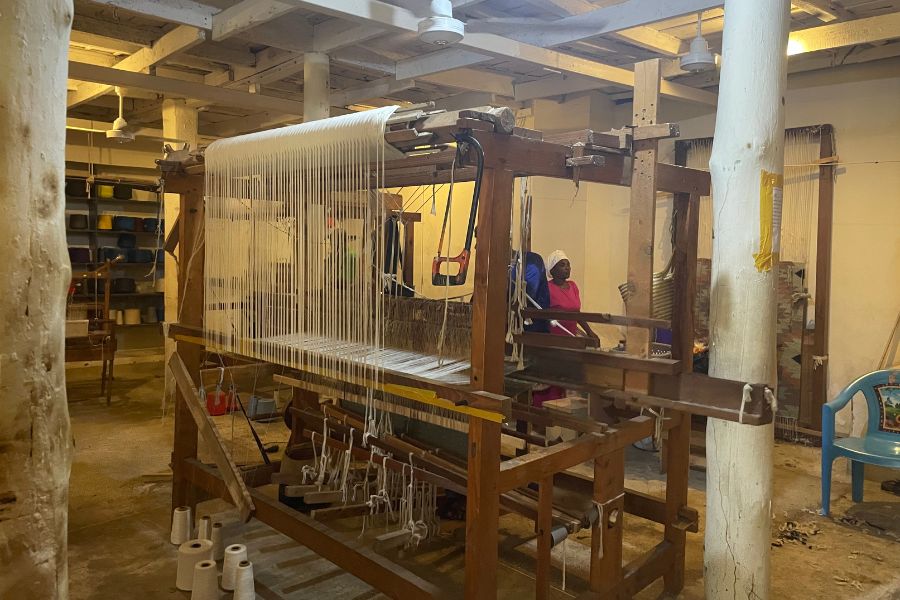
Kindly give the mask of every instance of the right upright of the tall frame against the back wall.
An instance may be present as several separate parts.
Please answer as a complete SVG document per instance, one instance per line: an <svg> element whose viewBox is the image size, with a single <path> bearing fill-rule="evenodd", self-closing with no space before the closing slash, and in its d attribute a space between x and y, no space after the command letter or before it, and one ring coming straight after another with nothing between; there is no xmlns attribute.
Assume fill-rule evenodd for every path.
<svg viewBox="0 0 900 600"><path fill-rule="evenodd" d="M834 156L834 130L823 125L819 135L819 158ZM816 329L813 355L828 356L828 326L831 318L831 231L834 225L834 165L819 167L819 217L816 233ZM806 323L803 324L804 330ZM813 367L813 429L822 430L822 405L828 401L828 359Z"/></svg>

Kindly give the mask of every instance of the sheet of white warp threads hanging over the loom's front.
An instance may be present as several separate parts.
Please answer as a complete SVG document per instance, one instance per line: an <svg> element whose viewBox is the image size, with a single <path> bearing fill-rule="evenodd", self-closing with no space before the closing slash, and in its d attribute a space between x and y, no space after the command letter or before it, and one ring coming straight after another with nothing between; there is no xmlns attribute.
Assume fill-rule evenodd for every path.
<svg viewBox="0 0 900 600"><path fill-rule="evenodd" d="M220 350L357 380L384 347L389 106L206 150L205 329ZM369 423L374 415L367 414Z"/></svg>

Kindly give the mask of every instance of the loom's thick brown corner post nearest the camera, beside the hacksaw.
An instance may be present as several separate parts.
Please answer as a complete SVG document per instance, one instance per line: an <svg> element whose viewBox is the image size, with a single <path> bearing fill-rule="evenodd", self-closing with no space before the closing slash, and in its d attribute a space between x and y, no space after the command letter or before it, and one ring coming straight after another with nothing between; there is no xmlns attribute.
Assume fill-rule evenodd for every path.
<svg viewBox="0 0 900 600"><path fill-rule="evenodd" d="M507 265L513 176L485 168L481 181L472 297L472 386L503 392ZM469 419L466 598L497 597L500 423Z"/></svg>

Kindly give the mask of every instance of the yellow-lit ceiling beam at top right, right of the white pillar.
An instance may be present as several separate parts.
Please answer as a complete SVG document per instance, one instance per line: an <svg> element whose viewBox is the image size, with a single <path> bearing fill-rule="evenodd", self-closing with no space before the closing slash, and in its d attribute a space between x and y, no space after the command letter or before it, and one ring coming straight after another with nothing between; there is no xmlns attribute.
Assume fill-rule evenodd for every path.
<svg viewBox="0 0 900 600"><path fill-rule="evenodd" d="M900 38L900 12L792 31L790 55Z"/></svg>

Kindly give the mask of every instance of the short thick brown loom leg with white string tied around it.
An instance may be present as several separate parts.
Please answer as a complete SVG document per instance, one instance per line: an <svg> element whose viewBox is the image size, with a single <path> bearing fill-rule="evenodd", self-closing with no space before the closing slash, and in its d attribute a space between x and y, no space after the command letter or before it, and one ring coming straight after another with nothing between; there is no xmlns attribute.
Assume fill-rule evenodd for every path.
<svg viewBox="0 0 900 600"><path fill-rule="evenodd" d="M605 595L622 579L625 450L594 460L594 501L602 508L591 530L591 591Z"/></svg>

